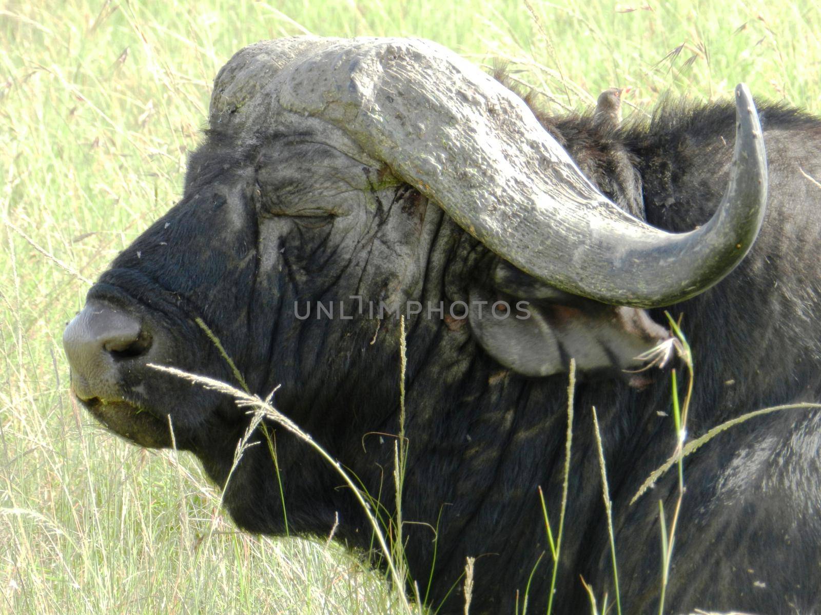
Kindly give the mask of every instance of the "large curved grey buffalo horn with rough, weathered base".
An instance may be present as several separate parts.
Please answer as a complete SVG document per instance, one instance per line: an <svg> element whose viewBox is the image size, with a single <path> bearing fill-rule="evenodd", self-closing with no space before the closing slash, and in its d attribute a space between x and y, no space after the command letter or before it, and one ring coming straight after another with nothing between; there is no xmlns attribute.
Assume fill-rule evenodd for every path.
<svg viewBox="0 0 821 615"><path fill-rule="evenodd" d="M673 234L599 193L521 98L447 48L310 37L263 45L268 121L290 112L337 126L494 253L567 293L635 307L676 303L726 276L758 235L767 163L744 84L727 191L706 224ZM286 57L274 62L277 45ZM222 90L230 86L230 66L215 86L212 121L226 107L218 86L221 77ZM251 96L248 66L245 57L239 89Z"/></svg>

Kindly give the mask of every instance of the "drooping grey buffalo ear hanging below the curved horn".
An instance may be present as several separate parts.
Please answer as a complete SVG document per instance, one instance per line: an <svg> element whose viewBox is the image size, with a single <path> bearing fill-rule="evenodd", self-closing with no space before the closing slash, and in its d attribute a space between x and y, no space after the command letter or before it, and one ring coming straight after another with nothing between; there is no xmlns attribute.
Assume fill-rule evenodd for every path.
<svg viewBox="0 0 821 615"><path fill-rule="evenodd" d="M488 303L479 313L475 305L482 301ZM490 310L497 301L511 309ZM566 294L503 261L484 287L471 289L470 302L479 344L524 376L566 372L574 358L580 374L617 372L632 385L646 385L646 374L635 373L644 365L638 357L670 336L644 310Z"/></svg>

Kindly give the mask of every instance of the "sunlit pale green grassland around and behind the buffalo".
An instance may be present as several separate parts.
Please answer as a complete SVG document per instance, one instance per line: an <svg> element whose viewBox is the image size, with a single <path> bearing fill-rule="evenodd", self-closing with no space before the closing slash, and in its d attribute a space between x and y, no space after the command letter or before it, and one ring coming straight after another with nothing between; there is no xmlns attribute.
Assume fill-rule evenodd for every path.
<svg viewBox="0 0 821 615"><path fill-rule="evenodd" d="M118 440L67 393L62 328L179 197L218 68L307 32L505 58L559 112L615 84L648 112L741 80L821 111L814 2L2 2L0 612L392 612L356 558L237 533L194 458Z"/></svg>

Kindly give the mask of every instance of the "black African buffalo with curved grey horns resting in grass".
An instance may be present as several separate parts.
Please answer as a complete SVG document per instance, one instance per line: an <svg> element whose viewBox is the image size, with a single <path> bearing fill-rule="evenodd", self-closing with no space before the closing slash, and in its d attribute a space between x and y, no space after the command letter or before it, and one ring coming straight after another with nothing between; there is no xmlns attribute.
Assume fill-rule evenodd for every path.
<svg viewBox="0 0 821 615"><path fill-rule="evenodd" d="M511 613L539 558L529 604L544 612L539 486L555 530L571 358L558 613L588 612L580 576L613 598L591 407L621 604L658 610L658 502L672 511L676 472L629 501L677 439L669 366L637 371L670 335L663 307L694 348L690 434L821 401L819 119L772 104L757 114L744 86L735 104L668 103L644 124L550 117L434 43L300 37L238 52L209 124L180 203L67 327L72 388L138 444L169 446L170 422L225 485L250 417L149 367L236 383L201 318L250 390L282 385L276 407L390 515L400 321L378 309L407 312L401 515L411 576L424 597L433 570L427 601L444 600L440 613L461 613L468 556L471 613ZM339 476L267 429L282 493L268 447L246 450L224 499L237 525L282 534L287 519L291 533L328 535L338 519L337 539L367 549ZM819 447L818 413L777 412L686 459L675 613L821 609Z"/></svg>

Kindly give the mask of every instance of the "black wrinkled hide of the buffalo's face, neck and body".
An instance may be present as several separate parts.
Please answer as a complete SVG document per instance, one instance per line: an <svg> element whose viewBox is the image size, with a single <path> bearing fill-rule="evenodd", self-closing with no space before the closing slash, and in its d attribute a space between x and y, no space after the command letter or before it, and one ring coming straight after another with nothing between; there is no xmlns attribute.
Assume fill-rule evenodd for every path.
<svg viewBox="0 0 821 615"><path fill-rule="evenodd" d="M771 198L759 241L721 284L670 308L673 318L683 317L695 349L695 435L757 408L821 400L821 191L798 171L821 178L821 123L778 107L764 108L761 117ZM732 107L668 110L650 127L606 131L594 129L589 117L543 121L599 189L653 225L689 230L721 198ZM250 389L264 396L282 385L276 407L370 494L381 494L388 511L394 508L388 435L399 430L398 321L317 319L315 312L300 320L296 301L304 313L305 302L351 295L366 305L411 299L447 306L471 294L511 303L525 298L553 326L586 323L585 331L600 331L602 344L615 352L610 365L596 359L580 366L557 612L589 608L580 575L599 596L609 594L610 602L613 596L591 406L599 412L608 464L622 608L657 609L658 500L672 514L676 476L665 476L635 505L628 502L674 447L672 419L659 415L669 412L669 376L654 370L635 380L619 357L635 356L631 339L649 344L653 335L621 337L624 328L612 324L615 308L552 294L524 274L499 276L500 267L438 205L397 183L327 125L302 134L263 132L241 143L212 132L190 158L181 202L117 257L89 302L139 318L153 335L153 362L232 381L194 321L201 317ZM635 311L628 320L646 316ZM661 311L649 317L666 323ZM502 336L482 337L468 321L415 316L406 330L402 517L415 522L404 528L410 573L424 594L434 567L428 602L435 607L459 579L466 556L476 557L471 613L511 613L516 592L521 597L542 558L529 605L544 610L550 565L538 487L555 532L566 373L533 377L502 367L494 358ZM539 344L516 326L505 335L511 343ZM118 433L154 446L170 444L170 417L177 445L224 485L248 425L245 412L135 359L121 365L126 404L108 403L112 394L86 401L89 409ZM339 477L287 431L271 429L284 494L267 447L247 450L225 496L237 525L284 533L284 500L291 533L327 535L338 514L337 538L368 548L365 517L339 488ZM676 612L821 608L819 440L818 414L783 412L729 430L686 460L667 589ZM461 613L461 604L456 587L440 613Z"/></svg>

